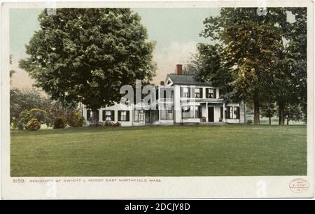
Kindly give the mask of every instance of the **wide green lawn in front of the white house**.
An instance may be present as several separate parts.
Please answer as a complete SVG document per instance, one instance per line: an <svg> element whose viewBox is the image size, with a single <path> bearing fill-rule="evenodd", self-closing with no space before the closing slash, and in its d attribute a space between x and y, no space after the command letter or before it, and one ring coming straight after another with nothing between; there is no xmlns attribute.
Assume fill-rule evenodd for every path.
<svg viewBox="0 0 315 214"><path fill-rule="evenodd" d="M306 174L303 125L11 131L11 176Z"/></svg>

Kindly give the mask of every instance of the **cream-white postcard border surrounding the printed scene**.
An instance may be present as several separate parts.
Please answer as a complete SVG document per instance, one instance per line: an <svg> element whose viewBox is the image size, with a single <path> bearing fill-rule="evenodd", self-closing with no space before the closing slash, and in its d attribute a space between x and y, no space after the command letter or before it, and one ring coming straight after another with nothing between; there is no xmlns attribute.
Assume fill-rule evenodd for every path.
<svg viewBox="0 0 315 214"><path fill-rule="evenodd" d="M283 7L306 6L307 13L307 176L244 177L155 177L161 183L23 183L10 178L9 129L9 8L131 7L131 8L204 8L204 7ZM314 6L312 1L137 1L137 2L36 2L1 5L1 191L4 199L196 199L196 198L290 198L314 197ZM5 72L2 72L5 71ZM97 177L99 178L99 177ZM106 177L109 178L109 177ZM104 179L106 179L104 178ZM111 177L120 178L120 177ZM131 178L131 177L124 177ZM134 177L141 178L141 177ZM148 178L148 177L144 177ZM290 181L303 178L309 190L290 191ZM26 180L38 178L24 178ZM41 178L43 179L43 178ZM50 178L47 178L50 179ZM64 179L57 177L57 179ZM73 179L73 178L71 178ZM89 179L78 177L78 179ZM52 187L55 194L50 194Z"/></svg>

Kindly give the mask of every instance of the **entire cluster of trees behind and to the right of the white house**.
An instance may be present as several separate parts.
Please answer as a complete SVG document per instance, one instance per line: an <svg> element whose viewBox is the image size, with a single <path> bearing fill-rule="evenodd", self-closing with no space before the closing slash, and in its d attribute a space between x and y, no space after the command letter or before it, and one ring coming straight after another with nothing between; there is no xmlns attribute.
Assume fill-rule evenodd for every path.
<svg viewBox="0 0 315 214"><path fill-rule="evenodd" d="M252 106L255 124L307 122L307 8L221 8L200 36L212 43L197 45L185 73Z"/></svg>

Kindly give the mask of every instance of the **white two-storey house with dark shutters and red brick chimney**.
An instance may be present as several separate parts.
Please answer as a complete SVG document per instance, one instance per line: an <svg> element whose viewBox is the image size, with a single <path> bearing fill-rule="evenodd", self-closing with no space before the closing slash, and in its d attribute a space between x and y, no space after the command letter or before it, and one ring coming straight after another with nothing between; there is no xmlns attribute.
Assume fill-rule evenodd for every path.
<svg viewBox="0 0 315 214"><path fill-rule="evenodd" d="M155 99L144 104L115 104L98 110L99 122L120 122L122 126L158 124L226 124L244 123L244 103L227 103L220 88L182 75L182 65L165 82L155 87ZM83 116L89 124L92 111L83 105Z"/></svg>

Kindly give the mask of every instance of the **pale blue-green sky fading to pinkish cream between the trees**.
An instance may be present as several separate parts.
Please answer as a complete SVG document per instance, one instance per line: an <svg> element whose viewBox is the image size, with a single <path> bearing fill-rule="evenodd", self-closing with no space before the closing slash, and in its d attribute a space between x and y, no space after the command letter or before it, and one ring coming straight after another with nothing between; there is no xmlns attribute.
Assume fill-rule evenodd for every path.
<svg viewBox="0 0 315 214"><path fill-rule="evenodd" d="M196 52L197 43L211 43L200 37L203 20L219 14L218 8L133 8L141 16L141 23L148 30L148 41L156 41L153 60L158 69L153 83L165 80L167 73L174 73L176 64L187 64ZM38 14L42 9L10 9L10 55L13 55L11 87L30 89L34 80L18 68L20 59L27 57L25 45L34 31L39 30Z"/></svg>

